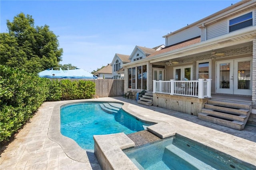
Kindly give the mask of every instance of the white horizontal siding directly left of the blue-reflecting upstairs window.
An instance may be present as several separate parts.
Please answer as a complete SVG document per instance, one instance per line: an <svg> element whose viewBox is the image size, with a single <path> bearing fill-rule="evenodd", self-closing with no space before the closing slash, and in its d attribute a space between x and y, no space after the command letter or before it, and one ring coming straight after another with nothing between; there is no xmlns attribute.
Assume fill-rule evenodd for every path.
<svg viewBox="0 0 256 170"><path fill-rule="evenodd" d="M207 39L209 40L214 37L222 36L228 34L228 21L224 20L222 22L217 22L216 24L207 27Z"/></svg>

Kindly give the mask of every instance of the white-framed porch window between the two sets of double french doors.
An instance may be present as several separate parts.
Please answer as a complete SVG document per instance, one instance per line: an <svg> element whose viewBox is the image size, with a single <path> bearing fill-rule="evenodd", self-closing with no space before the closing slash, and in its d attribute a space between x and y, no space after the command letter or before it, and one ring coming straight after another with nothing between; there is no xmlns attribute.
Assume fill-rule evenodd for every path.
<svg viewBox="0 0 256 170"><path fill-rule="evenodd" d="M211 78L211 60L196 62L196 79L210 79Z"/></svg>

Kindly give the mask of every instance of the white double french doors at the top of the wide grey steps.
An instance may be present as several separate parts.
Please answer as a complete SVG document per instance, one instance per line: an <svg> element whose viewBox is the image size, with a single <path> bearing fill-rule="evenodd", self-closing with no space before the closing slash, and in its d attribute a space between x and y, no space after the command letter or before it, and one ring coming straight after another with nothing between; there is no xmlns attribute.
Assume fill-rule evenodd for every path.
<svg viewBox="0 0 256 170"><path fill-rule="evenodd" d="M252 95L252 59L216 62L216 93Z"/></svg>

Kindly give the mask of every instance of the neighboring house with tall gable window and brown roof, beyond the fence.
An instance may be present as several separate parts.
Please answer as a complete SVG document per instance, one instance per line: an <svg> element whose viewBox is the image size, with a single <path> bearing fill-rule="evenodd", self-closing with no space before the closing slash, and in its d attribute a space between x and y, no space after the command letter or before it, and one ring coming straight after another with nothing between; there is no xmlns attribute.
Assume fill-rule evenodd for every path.
<svg viewBox="0 0 256 170"><path fill-rule="evenodd" d="M113 79L124 79L123 64L130 62L129 57L130 55L115 54L111 63Z"/></svg>

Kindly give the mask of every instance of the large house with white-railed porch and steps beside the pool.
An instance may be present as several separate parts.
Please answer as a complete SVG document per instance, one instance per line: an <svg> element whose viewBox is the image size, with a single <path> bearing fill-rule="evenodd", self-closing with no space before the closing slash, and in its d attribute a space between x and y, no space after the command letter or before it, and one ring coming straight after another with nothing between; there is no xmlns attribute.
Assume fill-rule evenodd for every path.
<svg viewBox="0 0 256 170"><path fill-rule="evenodd" d="M248 119L256 125L256 1L240 1L163 38L166 47L146 57L134 49L123 65L125 91L146 89L154 106L238 130ZM233 101L216 103L214 95Z"/></svg>

